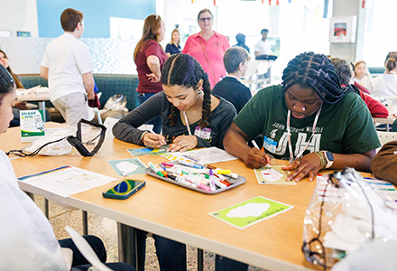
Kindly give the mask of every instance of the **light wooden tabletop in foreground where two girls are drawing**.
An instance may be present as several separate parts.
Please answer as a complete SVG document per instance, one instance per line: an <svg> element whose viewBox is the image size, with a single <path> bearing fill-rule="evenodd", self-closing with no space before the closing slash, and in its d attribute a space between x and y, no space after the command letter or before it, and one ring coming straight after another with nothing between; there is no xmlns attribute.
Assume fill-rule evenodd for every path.
<svg viewBox="0 0 397 271"><path fill-rule="evenodd" d="M46 123L46 126L60 125ZM21 147L18 133L19 128L10 128L5 135L1 135L1 149L8 151ZM134 147L135 145L107 136L104 145L93 157L82 157L77 153L63 156L37 155L14 159L11 162L18 177L66 164L117 177L107 160L131 158L131 154L126 149ZM149 161L153 163L165 161L160 156L146 155L139 158L145 164ZM280 163L283 162L272 162L272 164ZM125 225L144 229L253 266L261 266L269 270L316 269L317 266L306 262L300 250L305 210L316 182L302 181L293 186L260 185L256 181L254 171L246 168L240 160L219 163L218 166L245 176L245 184L227 192L206 195L141 174L135 175L134 178L145 180L146 187L126 201L102 197L102 192L112 184L88 192L80 192L68 199L44 193L27 185L22 187L25 191L44 195L55 203L87 210ZM294 207L246 229L236 229L208 215L208 212L221 210L257 196L281 201Z"/></svg>

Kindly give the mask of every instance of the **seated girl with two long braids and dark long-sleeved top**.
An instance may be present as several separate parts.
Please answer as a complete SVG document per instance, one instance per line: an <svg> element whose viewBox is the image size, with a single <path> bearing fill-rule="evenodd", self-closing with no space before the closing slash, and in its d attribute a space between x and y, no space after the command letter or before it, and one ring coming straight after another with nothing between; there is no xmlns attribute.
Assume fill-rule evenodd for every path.
<svg viewBox="0 0 397 271"><path fill-rule="evenodd" d="M113 135L122 141L151 148L170 142L171 152L210 146L223 149L223 138L233 122L235 108L224 98L211 95L208 75L199 61L184 53L172 55L162 69L162 88L162 92L120 119L113 127ZM137 129L159 116L162 117L162 135ZM146 234L137 230L139 271L144 269ZM184 244L154 234L153 238L162 271L186 270ZM225 265L229 263L225 260Z"/></svg>

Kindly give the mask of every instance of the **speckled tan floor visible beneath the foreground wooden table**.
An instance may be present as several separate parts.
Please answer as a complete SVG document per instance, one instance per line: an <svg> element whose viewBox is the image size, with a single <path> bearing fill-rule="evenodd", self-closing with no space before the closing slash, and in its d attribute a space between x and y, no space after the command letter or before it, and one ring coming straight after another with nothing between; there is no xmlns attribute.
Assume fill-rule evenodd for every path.
<svg viewBox="0 0 397 271"><path fill-rule="evenodd" d="M43 198L35 196L34 201L43 210ZM69 210L58 206L50 201L50 222L54 229L55 236L58 239L69 238L68 233L64 230L66 225L82 233L82 214L81 210ZM117 230L114 220L108 220L101 216L88 213L88 233L101 238L107 251L107 262L116 262L117 255ZM188 270L197 270L197 248L187 246ZM210 271L215 269L215 255L204 251L204 270ZM146 262L145 270L160 270L155 254L154 242L152 238L147 238L146 244ZM250 266L249 271L264 271L262 268Z"/></svg>

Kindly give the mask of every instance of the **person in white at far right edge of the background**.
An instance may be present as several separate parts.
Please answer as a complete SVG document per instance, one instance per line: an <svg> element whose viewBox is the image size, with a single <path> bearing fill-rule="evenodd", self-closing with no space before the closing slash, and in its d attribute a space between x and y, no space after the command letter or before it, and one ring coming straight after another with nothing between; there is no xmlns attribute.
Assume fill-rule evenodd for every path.
<svg viewBox="0 0 397 271"><path fill-rule="evenodd" d="M397 96L397 51L391 51L384 61L386 70L374 79L374 95L383 97Z"/></svg>

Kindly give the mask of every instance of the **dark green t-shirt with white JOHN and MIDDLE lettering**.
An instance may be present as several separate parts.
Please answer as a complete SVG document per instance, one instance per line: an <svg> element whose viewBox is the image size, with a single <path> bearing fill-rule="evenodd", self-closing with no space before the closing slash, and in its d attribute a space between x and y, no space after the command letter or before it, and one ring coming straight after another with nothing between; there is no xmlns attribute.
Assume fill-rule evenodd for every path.
<svg viewBox="0 0 397 271"><path fill-rule="evenodd" d="M273 158L289 160L288 107L282 86L261 89L235 117L235 125L254 138L263 135L263 147ZM294 158L307 145L316 114L297 119L291 116L291 145ZM362 154L380 145L371 114L362 98L353 92L337 104L323 103L319 121L303 155L329 151Z"/></svg>

